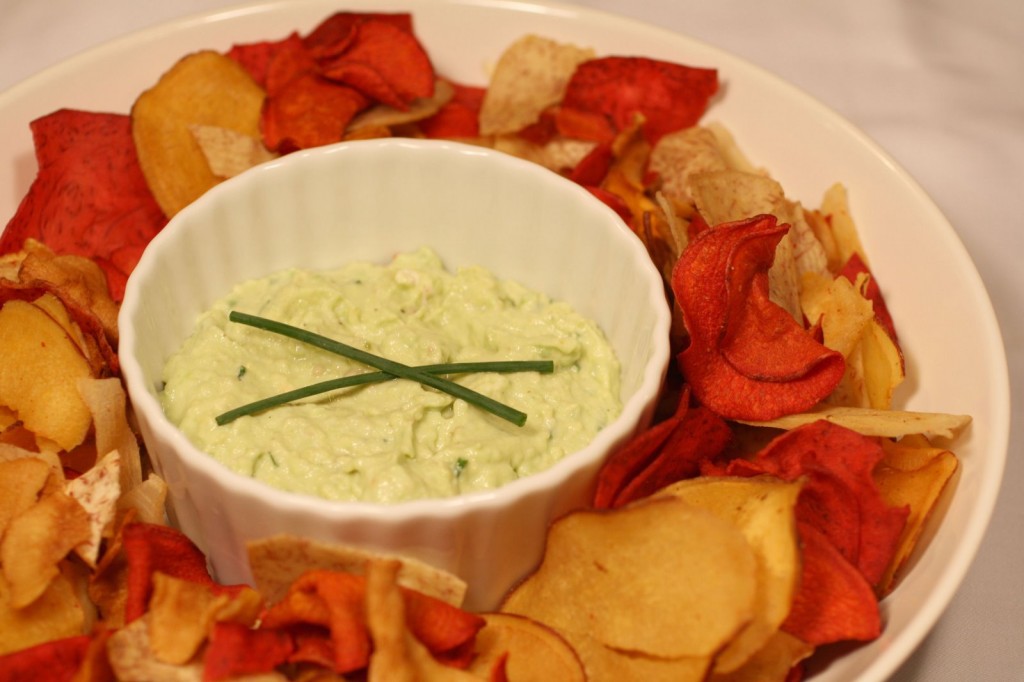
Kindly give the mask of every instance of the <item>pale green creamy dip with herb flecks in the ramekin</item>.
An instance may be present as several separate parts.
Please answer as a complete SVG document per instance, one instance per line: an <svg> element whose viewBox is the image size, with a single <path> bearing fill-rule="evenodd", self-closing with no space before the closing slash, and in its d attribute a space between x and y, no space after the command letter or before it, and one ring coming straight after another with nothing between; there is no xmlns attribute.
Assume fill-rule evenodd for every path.
<svg viewBox="0 0 1024 682"><path fill-rule="evenodd" d="M346 388L241 417L269 395L374 371L231 310L301 327L406 365L550 359L552 374L453 381L527 415L523 426L409 380ZM498 487L581 450L621 411L620 365L597 325L480 267L452 272L430 249L386 265L287 270L240 285L169 358L164 411L234 471L332 500L393 503Z"/></svg>

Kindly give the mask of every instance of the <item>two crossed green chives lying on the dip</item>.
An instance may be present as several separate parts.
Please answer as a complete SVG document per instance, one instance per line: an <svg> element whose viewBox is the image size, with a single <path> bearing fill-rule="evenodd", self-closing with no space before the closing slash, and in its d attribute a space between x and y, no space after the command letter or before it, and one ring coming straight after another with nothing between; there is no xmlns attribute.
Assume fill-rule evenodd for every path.
<svg viewBox="0 0 1024 682"><path fill-rule="evenodd" d="M457 384L454 381L449 381L447 379L444 379L444 376L454 374L469 374L474 372L542 372L550 374L551 372L554 372L555 369L554 363L551 360L492 360L483 363L445 363L441 365L421 365L419 367L410 367L408 365L402 365L401 363L387 359L386 357L381 357L380 355L375 355L374 353L366 350L355 348L354 346L342 343L341 341L335 341L329 337L321 336L319 334L309 332L299 327L293 327L292 325L287 325L282 322L276 322L274 319L267 319L266 317L252 315L247 312L239 312L238 310L232 310L228 314L227 318L233 323L248 325L249 327L255 327L256 329L261 329L265 332L273 334L280 334L281 336L301 341L302 343L307 343L323 350L342 355L357 363L361 363L362 365L367 365L368 367L372 367L377 370L377 372L367 372L348 377L340 377L338 379L329 379L327 381L303 386L302 388L296 388L284 393L271 395L254 402L249 402L218 415L216 417L218 426L229 424L239 417L245 417L247 415L263 412L265 410L269 410L270 408L275 408L278 406L293 402L312 395L327 393L328 391L334 391L340 388L348 388L350 386L360 386L365 384L390 381L392 379L408 379L411 381L417 381L424 386L429 386L430 388L442 391L449 395L461 398L469 404L489 412L490 414L501 417L506 421L512 422L516 426L522 426L526 423L526 413L520 412L515 408L511 408L504 402L499 402L494 398L487 397L486 395L474 391L471 388L466 388L465 386Z"/></svg>

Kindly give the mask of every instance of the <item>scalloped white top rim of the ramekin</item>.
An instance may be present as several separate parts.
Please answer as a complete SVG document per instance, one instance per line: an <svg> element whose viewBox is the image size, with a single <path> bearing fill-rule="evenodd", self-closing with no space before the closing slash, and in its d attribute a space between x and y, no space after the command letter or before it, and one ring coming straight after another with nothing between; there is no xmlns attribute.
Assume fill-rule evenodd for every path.
<svg viewBox="0 0 1024 682"><path fill-rule="evenodd" d="M376 150L406 148L414 150L417 153L487 158L494 163L512 169L512 172L545 177L548 182L559 186L561 191L567 196L586 203L588 210L595 215L603 214L603 225L618 226L617 229L613 227L609 229L610 233L616 236L613 239L620 240L616 244L616 253L627 254L628 260L639 267L647 281L647 301L650 302L654 312L654 326L650 330L651 350L633 394L623 401L622 410L615 419L602 427L585 447L567 454L543 471L517 478L492 489L475 491L450 498L422 498L394 503L330 500L274 487L269 483L246 477L231 470L195 445L167 418L159 400L148 390L143 378L144 373L135 357L134 350L137 348L138 340L135 328L131 324L135 311L140 309L139 282L148 278L150 271L157 262L156 252L163 244L175 238L178 225L186 225L195 213L206 210L207 205L220 201L222 196L236 191L237 187L243 186L243 183L248 182L249 179L259 174L280 172L281 168L285 168L285 172L287 172L287 168L290 166L316 163L317 159L344 154L353 148L367 154L373 154ZM128 395L136 413L140 413L140 420L154 429L161 440L177 451L178 457L187 469L197 470L210 479L231 486L233 492L240 496L250 499L259 498L263 504L286 513L316 514L332 520L359 518L404 522L425 517L454 518L469 511L493 510L498 507L511 506L517 501L556 487L561 481L571 478L580 468L593 464L594 460L598 459L602 453L610 453L616 442L623 442L637 432L643 420L650 417L653 412L671 360L669 331L672 314L665 297L662 274L650 260L646 248L640 240L610 207L579 183L558 173L534 162L496 150L453 140L415 138L350 140L300 150L264 162L217 184L209 189L203 199L205 201L197 201L185 206L171 218L164 229L146 246L138 264L129 276L118 314L120 333L118 355Z"/></svg>

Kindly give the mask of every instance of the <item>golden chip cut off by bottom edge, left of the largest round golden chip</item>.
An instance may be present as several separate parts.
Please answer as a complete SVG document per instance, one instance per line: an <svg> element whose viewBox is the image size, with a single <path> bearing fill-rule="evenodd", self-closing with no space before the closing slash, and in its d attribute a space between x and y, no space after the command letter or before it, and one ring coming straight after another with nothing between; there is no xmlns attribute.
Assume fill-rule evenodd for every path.
<svg viewBox="0 0 1024 682"><path fill-rule="evenodd" d="M501 657L508 655L511 682L585 682L583 663L561 635L546 625L513 613L484 613L486 623L476 635L476 656L468 670L488 677Z"/></svg>

